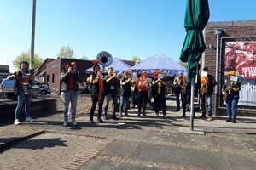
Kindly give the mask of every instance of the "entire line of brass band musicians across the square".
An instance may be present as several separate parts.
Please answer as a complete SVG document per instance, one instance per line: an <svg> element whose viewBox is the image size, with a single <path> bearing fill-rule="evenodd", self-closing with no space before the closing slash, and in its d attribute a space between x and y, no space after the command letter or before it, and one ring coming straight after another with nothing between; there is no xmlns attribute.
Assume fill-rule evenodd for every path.
<svg viewBox="0 0 256 170"><path fill-rule="evenodd" d="M20 70L16 71L19 74L11 73L7 79L15 79L17 85L16 95L18 96L18 105L15 111L15 125L20 124L20 106L23 101L26 100L26 121L32 122L33 119L30 117L30 94L25 93L25 88L22 82L23 79L27 80L29 84L32 82L32 77L27 70L28 63L21 62ZM21 75L21 76L19 76ZM19 78L20 77L20 78ZM25 78L23 78L25 77ZM124 72L118 74L114 73L113 67L108 67L108 75L103 75L100 65L95 63L93 66L93 73L87 79L90 82L90 96L92 105L90 108L90 123L94 123L93 116L96 110L96 105L98 104L98 114L97 122L102 121L102 107L104 100L106 99L106 104L104 107L104 119L108 119L108 105L109 101L112 101L112 118L118 120L116 116L118 100L119 105L119 117L129 116L128 109L130 108L130 99L132 97L133 107L138 106L137 116L146 117L146 106L148 104L148 99L151 97L154 99L154 111L155 116L159 116L159 111L162 111L164 118L166 115L166 76L161 71L156 71L154 73L154 78L149 78L147 73L143 71L140 77L137 77L137 73L132 73L131 69L127 69ZM64 110L63 126L68 125L68 107L72 111L72 124L77 125L75 122L76 115L76 104L79 90L79 83L82 81L79 78L79 72L76 71L72 64L65 63L62 65L61 71L61 99L63 101ZM206 118L212 121L212 94L213 88L217 85L215 78L211 75L207 67L203 68L201 72L200 81L196 83L196 92L201 99L201 118ZM173 81L175 86L175 95L177 103L177 111L180 111L180 99L182 100L183 115L186 116L187 101L190 99L191 84L186 82L186 78L183 76L182 72L179 72L178 76L175 77ZM20 88L21 87L21 88ZM224 96L224 101L227 107L227 122L236 123L236 110L239 100L239 91L241 90L241 82L236 76L236 71L230 71L227 73L227 79L224 81L222 87L222 92ZM206 101L207 100L207 101ZM207 109L206 109L207 104ZM125 111L125 112L124 112ZM194 113L195 116L195 113Z"/></svg>

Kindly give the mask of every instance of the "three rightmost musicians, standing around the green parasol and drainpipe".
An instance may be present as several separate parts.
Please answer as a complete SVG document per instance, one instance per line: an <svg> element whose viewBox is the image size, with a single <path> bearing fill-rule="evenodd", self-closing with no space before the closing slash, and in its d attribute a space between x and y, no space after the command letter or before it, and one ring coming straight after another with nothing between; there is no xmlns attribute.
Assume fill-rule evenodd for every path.
<svg viewBox="0 0 256 170"><path fill-rule="evenodd" d="M208 67L204 67L201 72L200 81L195 85L195 94L198 94L201 104L201 116L200 118L207 118L207 121L212 121L212 94L213 88L217 85L215 78L211 75ZM178 73L173 81L175 86L175 96L177 111L180 111L180 100L182 100L183 117L185 117L187 103L190 99L191 84L186 82L186 78L182 72ZM227 73L227 79L222 87L222 94L224 94L224 100L227 109L227 122L236 123L237 104L239 100L239 91L241 90L241 82L236 76L236 71L230 71ZM207 105L207 109L206 109ZM207 116L206 116L207 113ZM195 111L193 113L195 117Z"/></svg>

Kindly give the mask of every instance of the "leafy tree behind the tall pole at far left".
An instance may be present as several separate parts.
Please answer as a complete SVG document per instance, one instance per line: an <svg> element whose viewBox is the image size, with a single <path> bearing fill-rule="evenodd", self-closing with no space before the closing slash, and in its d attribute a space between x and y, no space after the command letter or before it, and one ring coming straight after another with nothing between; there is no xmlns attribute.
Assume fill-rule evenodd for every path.
<svg viewBox="0 0 256 170"><path fill-rule="evenodd" d="M13 65L15 66L15 69L20 68L21 61L27 61L30 63L30 55L31 50L28 49L27 52L22 52L22 54L16 56L15 60L12 61ZM38 54L34 54L34 70L38 68L43 63L44 59L40 58Z"/></svg>

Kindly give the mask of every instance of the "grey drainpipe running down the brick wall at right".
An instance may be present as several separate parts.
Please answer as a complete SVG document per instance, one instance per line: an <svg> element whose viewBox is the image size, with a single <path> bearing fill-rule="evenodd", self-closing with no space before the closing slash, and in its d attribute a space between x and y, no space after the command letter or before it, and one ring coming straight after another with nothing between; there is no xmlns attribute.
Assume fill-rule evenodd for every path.
<svg viewBox="0 0 256 170"><path fill-rule="evenodd" d="M220 40L220 34L222 33L222 29L221 28L216 28L215 29L215 35L217 36L217 45L216 45L216 69L215 69L215 75L216 75L216 81L218 83L220 83L220 81L218 81L218 76L219 76L219 40ZM215 86L215 102L214 102L214 111L215 111L215 116L218 115L218 96L219 96L219 86Z"/></svg>

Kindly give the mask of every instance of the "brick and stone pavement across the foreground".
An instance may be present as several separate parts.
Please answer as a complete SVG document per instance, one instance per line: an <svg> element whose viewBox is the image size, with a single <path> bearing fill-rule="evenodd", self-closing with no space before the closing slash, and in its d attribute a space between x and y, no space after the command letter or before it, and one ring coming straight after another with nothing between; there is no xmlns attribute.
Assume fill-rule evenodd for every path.
<svg viewBox="0 0 256 170"><path fill-rule="evenodd" d="M172 100L168 119L129 110L130 117L96 124L89 123L89 102L79 97L76 127L62 127L61 113L0 124L0 169L255 169L255 117L238 116L236 124L225 116L195 119L205 132L197 135L179 132L189 117L181 118Z"/></svg>

